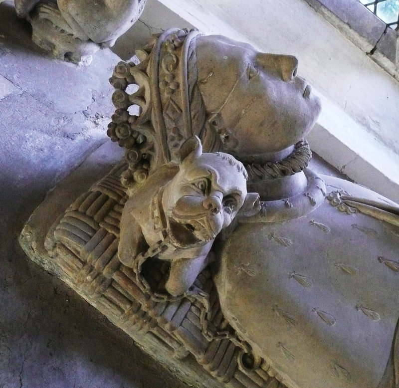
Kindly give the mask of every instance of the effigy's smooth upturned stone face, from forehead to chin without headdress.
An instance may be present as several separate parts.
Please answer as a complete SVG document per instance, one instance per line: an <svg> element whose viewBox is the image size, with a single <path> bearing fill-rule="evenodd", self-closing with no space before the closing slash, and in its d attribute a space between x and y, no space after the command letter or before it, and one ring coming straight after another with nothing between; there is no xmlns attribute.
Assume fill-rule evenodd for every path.
<svg viewBox="0 0 399 388"><path fill-rule="evenodd" d="M207 109L233 131L235 147L225 147L229 152L245 159L281 151L311 130L320 100L297 76L294 56L258 52L224 36L201 37L197 47Z"/></svg>

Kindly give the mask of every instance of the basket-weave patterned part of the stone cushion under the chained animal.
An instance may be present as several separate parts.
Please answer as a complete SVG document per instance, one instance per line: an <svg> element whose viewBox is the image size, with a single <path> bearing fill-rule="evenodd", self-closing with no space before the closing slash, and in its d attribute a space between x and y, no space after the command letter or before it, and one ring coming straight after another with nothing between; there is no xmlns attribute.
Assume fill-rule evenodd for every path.
<svg viewBox="0 0 399 388"><path fill-rule="evenodd" d="M240 343L224 320L208 269L196 279L197 294L158 301L119 261L119 222L128 198L120 176L126 168L126 163L117 165L50 229L45 246L56 272L128 334L156 338L171 357L194 357L198 368L217 379L217 386L285 387L264 360L244 352L247 344ZM161 278L161 270L154 270Z"/></svg>

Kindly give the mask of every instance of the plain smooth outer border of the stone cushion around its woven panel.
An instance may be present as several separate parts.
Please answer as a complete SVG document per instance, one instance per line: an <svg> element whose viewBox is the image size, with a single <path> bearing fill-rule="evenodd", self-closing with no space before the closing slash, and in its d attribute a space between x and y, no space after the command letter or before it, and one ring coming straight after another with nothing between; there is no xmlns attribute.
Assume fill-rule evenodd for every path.
<svg viewBox="0 0 399 388"><path fill-rule="evenodd" d="M114 167L118 161L120 161L121 157L121 150L111 143L104 144L98 148L77 170L66 177L53 191L47 194L45 200L40 204L25 224L20 236L20 244L35 263L65 281L73 290L78 292L80 296L84 297L89 303L93 304L97 309L105 314L111 322L115 323L128 333L133 341L141 348L144 348L145 351L155 358L158 363L167 365L168 369L172 371L174 375L179 376L180 379L196 387L222 387L220 383L207 376L206 372L193 359L186 358L184 361L180 361L177 357L179 356L179 349L176 349L174 354L173 349L171 350L167 345L171 344L170 340L167 339L167 332L161 332L164 334L158 338L159 336L157 337L151 332L147 333L148 328L146 329L146 327L142 326L141 330L139 327L138 330L134 323L129 319L125 319L124 321L121 319L118 320L118 316L115 315L109 307L107 308L107 306L102 304L99 300L95 300L93 296L89 296L87 290L80 287L78 282L71 281L62 265L59 265L60 262L54 260L54 258L49 257L48 255L46 249L46 247L48 248L48 245L45 244L48 230L51 229L51 226L56 225L54 222L57 221L57 218L59 219L60 216L62 216L65 208L69 206L74 199L79 197L80 194L84 194L91 184L94 184L98 179L107 174L109 170ZM82 185L80 182L84 182L84 184ZM93 320L94 319L100 322L103 321L103 319L99 318L93 318ZM142 324L142 322L140 322L140 320L138 322L140 326L140 323ZM99 324L93 323L93 325L98 327ZM119 331L117 333L119 333ZM82 335L84 335L83 329ZM124 338L121 333L119 333L119 336ZM104 345L109 349L107 341L104 342ZM87 347L90 347L90 345L87 344ZM180 357L185 355L183 350L184 349L182 349ZM115 357L113 356L114 349L109 349L108 353L109 357ZM135 358L134 356L132 357L131 352L128 352L124 363L125 362L135 369ZM133 378L131 379L131 382L127 381L127 384L131 384L132 387L136 387L137 384L138 388L152 387L151 384L155 384L154 387L159 387L160 384L162 384L163 387L165 384L165 387L171 388L186 387L186 385L181 381L177 379L172 380L171 377L165 376L164 373L154 375L154 370L158 370L160 366L159 364L152 365L154 361L151 358L148 358L148 356L145 357L145 362L145 366L142 364L139 364L138 366L138 368L146 369L146 371L141 373L140 380ZM100 369L100 366L97 368ZM147 374L149 374L148 377ZM149 379L151 374L153 374L153 376ZM95 386L95 383L93 383L90 387Z"/></svg>

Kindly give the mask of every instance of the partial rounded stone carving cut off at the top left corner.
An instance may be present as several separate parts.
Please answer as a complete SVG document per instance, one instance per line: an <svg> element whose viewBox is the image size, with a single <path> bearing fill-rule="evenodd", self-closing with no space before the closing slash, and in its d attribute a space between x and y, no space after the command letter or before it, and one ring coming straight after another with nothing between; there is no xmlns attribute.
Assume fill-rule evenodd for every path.
<svg viewBox="0 0 399 388"><path fill-rule="evenodd" d="M113 46L136 22L146 0L14 2L16 14L31 23L35 44L56 58L89 64L92 54Z"/></svg>

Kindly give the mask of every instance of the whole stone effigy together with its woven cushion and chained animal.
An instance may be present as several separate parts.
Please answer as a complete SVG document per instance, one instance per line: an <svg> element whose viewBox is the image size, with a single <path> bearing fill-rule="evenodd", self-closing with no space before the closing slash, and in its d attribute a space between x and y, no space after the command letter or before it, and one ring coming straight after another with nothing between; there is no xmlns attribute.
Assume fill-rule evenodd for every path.
<svg viewBox="0 0 399 388"><path fill-rule="evenodd" d="M137 56L124 155L47 195L28 256L195 387L398 388L399 205L307 168L297 59L177 28Z"/></svg>

